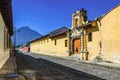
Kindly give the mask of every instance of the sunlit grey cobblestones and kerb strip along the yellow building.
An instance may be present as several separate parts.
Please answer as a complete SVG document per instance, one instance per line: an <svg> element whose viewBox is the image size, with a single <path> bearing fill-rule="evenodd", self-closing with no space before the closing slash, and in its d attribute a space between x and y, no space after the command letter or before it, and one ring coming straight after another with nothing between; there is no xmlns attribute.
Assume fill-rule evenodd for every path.
<svg viewBox="0 0 120 80"><path fill-rule="evenodd" d="M25 55L32 56L34 58L42 58L78 71L85 72L105 80L120 80L120 64L107 63L107 62L92 62L74 60L71 58L60 58L54 56L46 56L41 54L24 53Z"/></svg>

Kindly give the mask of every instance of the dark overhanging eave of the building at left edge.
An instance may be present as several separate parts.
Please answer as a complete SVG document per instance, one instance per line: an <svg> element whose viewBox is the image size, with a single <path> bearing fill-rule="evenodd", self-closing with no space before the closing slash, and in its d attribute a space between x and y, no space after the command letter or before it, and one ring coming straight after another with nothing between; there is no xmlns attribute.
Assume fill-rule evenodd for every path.
<svg viewBox="0 0 120 80"><path fill-rule="evenodd" d="M0 1L0 12L2 14L5 25L10 32L10 35L13 35L12 1L1 0Z"/></svg>

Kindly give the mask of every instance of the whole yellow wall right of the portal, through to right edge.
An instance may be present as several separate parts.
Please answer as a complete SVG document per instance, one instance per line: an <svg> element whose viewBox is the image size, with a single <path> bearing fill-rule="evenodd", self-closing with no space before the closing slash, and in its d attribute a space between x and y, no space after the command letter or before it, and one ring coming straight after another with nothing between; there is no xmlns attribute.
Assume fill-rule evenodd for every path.
<svg viewBox="0 0 120 80"><path fill-rule="evenodd" d="M98 26L87 28L88 34L92 32L92 41L87 42L89 60L101 56L105 61L120 63L120 6L107 13ZM88 39L88 38L87 38ZM88 41L88 40L87 40ZM100 51L100 41L102 48ZM101 55L99 55L101 53Z"/></svg>

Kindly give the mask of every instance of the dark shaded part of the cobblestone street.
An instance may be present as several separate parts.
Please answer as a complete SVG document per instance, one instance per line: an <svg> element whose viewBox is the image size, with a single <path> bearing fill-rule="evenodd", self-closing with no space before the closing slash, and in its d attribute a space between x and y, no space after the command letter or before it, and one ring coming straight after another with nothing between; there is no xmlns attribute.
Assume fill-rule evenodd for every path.
<svg viewBox="0 0 120 80"><path fill-rule="evenodd" d="M18 73L25 80L103 80L42 58L16 54ZM21 79L23 80L23 79Z"/></svg>

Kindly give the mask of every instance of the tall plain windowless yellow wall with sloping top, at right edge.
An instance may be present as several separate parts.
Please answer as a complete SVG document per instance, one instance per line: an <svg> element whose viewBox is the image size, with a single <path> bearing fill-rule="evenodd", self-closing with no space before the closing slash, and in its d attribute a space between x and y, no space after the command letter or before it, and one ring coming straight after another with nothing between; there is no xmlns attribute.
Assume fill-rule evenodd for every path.
<svg viewBox="0 0 120 80"><path fill-rule="evenodd" d="M101 20L102 55L107 60L120 62L120 5Z"/></svg>

